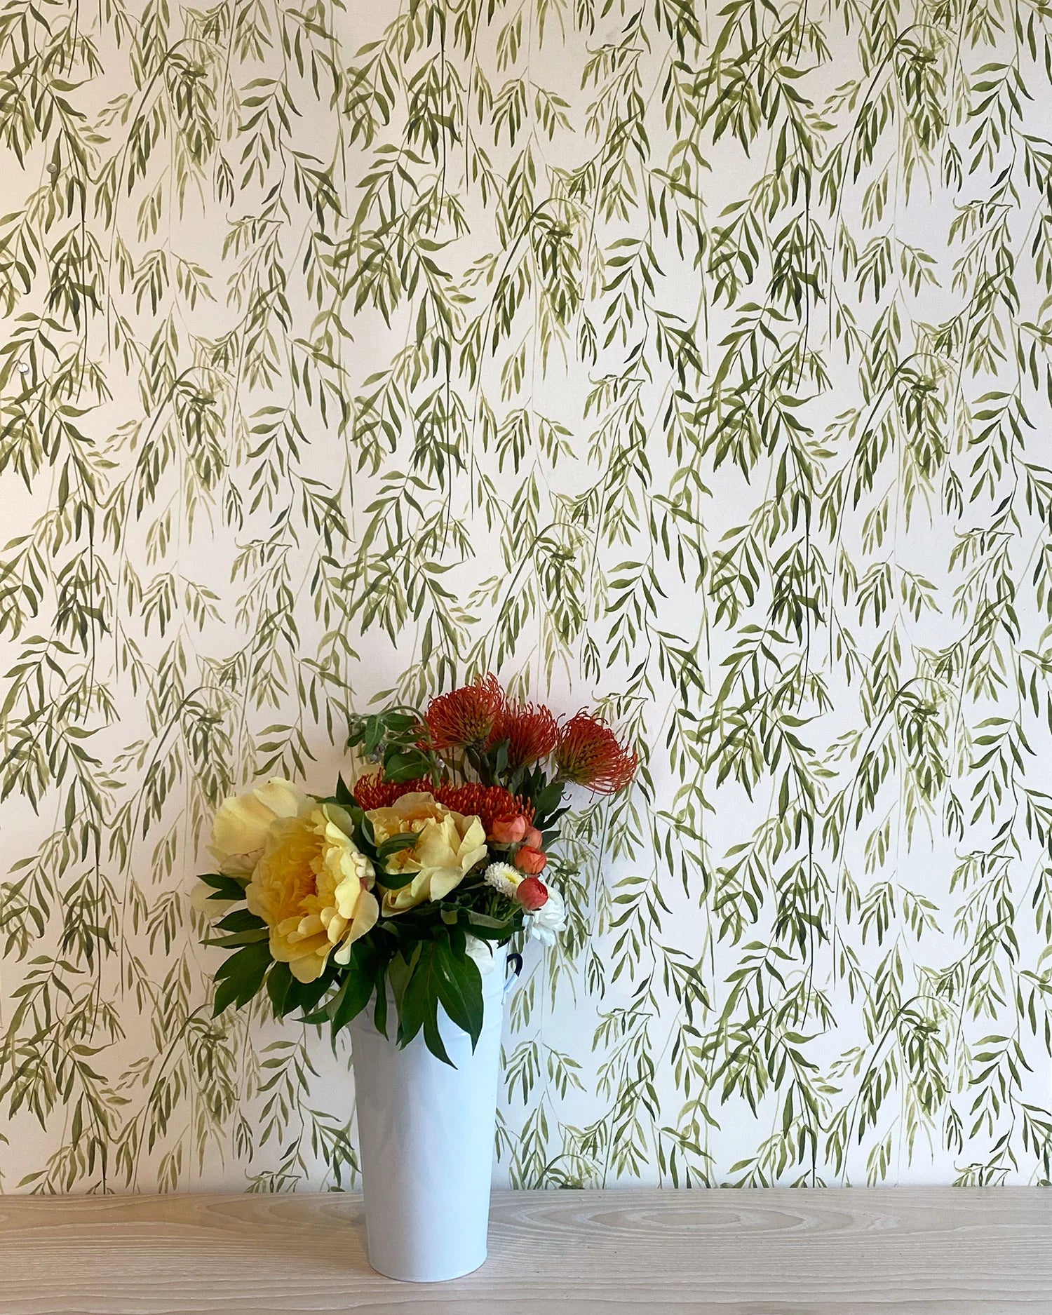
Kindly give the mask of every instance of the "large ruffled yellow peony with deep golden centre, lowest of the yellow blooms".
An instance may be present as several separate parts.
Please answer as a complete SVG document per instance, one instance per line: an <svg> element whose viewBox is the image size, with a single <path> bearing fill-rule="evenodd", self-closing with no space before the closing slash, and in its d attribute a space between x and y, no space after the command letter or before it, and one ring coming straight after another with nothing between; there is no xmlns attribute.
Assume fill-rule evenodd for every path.
<svg viewBox="0 0 1052 1315"><path fill-rule="evenodd" d="M331 803L272 822L245 892L271 930L271 955L313 982L335 949L338 964L380 915L370 859L351 840L351 819Z"/></svg>

